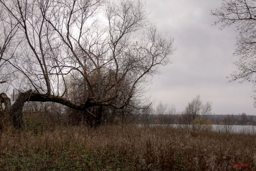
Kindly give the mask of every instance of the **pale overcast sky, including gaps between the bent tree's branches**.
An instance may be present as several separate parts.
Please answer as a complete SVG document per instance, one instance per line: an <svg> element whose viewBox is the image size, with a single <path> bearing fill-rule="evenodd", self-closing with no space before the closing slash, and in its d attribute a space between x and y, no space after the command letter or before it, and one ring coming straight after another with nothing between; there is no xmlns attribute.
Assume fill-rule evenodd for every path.
<svg viewBox="0 0 256 171"><path fill-rule="evenodd" d="M7 6L10 5L7 3L8 1L2 0L2 2L6 3ZM41 4L41 6L33 6L33 8L40 8L39 11L33 11L32 7L30 11L27 11L42 13L42 18L36 17L39 13L33 16L27 15L27 13L22 13L22 10L25 10L26 6L9 6L9 12L12 11L13 13L5 12L6 15L1 15L3 23L0 25L0 27L5 27L6 24L10 23L8 22L10 17L12 18L12 23L8 27L5 27L6 30L1 30L6 32L5 34L1 35L7 38L7 41L5 41L5 45L7 45L5 51L19 47L15 51L17 53L11 54L11 57L22 60L15 61L17 62L17 65L14 65L14 68L9 70L10 72L14 73L13 77L8 81L10 82L11 80L14 80L14 84L18 82L23 83L20 85L20 87L17 87L18 89L33 88L39 93L51 92L51 94L62 96L66 92L66 89L60 90L59 88L61 84L63 84L65 87L65 81L61 80L65 80L63 78L67 74L72 73L75 75L74 72L79 72L84 78L85 83L88 84L86 85L88 89L92 90L94 88L90 87L92 86L90 85L90 82L93 82L95 79L92 79L92 81L86 80L87 77L84 76L93 75L94 78L97 78L97 74L93 74L101 72L97 68L102 68L103 71L105 70L106 66L120 65L119 62L115 60L115 55L113 58L111 58L113 60L101 60L103 57L102 55L109 55L109 52L114 52L114 49L117 48L117 46L115 46L115 41L118 40L118 36L120 36L117 34L117 27L121 27L120 22L117 21L120 19L118 19L118 16L120 17L118 14L120 9L116 8L115 5L105 6L104 15L105 19L107 19L105 24L109 25L109 27L103 28L101 22L96 22L90 19L93 17L93 14L98 14L97 12L99 12L99 8L102 9L101 4L99 3L101 1L92 0L88 2L91 2L92 4L84 5L90 7L88 8L90 10L82 11L80 9L81 14L84 15L78 15L73 18L68 16L70 16L70 14L78 14L79 11L74 11L76 10L76 7L74 6L73 8L72 4L67 6L67 8L68 10L73 10L74 13L65 13L63 7L63 15L65 16L62 17L61 15L54 14L57 11L54 11L54 13L49 12L49 6L47 3ZM167 33L167 36L174 37L174 49L177 47L177 50L175 51L172 58L173 64L166 65L165 67L161 68L162 74L155 76L152 80L153 85L151 86L151 90L149 90L147 93L148 96L153 95L156 99L161 100L162 103L173 103L175 104L177 111L182 111L186 108L187 103L193 97L195 97L197 94L200 94L202 101L212 101L213 113L238 114L245 112L246 114L256 114L256 109L253 107L254 100L251 98L251 96L254 95L252 92L252 85L248 83L238 84L237 82L228 83L228 79L226 79L226 77L229 76L232 71L236 71L237 69L233 64L237 61L237 59L233 56L233 53L235 52L236 36L238 33L235 31L235 27L229 27L224 30L220 30L219 26L212 26L214 21L216 21L216 17L211 16L210 12L211 10L220 7L221 2L221 0L148 0L146 2L147 6L145 11L144 8L140 8L141 6L137 8L142 10L140 17L142 17L143 22L146 22L142 22L140 24L147 25L148 27L150 24L148 24L147 21L150 21L149 23L156 23L157 27L151 27L151 32L154 32L154 30L157 28L157 30L163 33L163 35ZM15 10L16 8L20 8L20 11ZM57 8L57 6L53 5L49 8ZM4 8L2 8L0 12L2 12L3 9ZM143 18L145 17L143 15L149 12L149 20L146 20ZM115 13L115 15L109 15L111 13ZM14 19L13 15L16 14L20 14L19 18ZM27 15L27 17L22 18L22 15ZM31 19L34 17L33 20L30 20L30 17ZM63 18L67 18L67 20L63 20ZM76 19L81 20L77 22ZM23 20L28 21L27 25L31 25L33 27L28 28L27 26L23 25ZM88 27L73 27L75 24L82 26L85 24L83 21L87 21L86 24L89 24ZM108 23L108 21L110 22ZM43 25L42 23L47 24ZM111 27L113 24L117 24L117 27ZM92 32L90 26L98 29ZM137 27L139 27L139 25L136 24L133 26L134 27L131 28L129 27L129 29L131 29L129 31L133 32L133 29L137 29ZM25 34L21 31L26 30L24 28L27 29L27 33L24 32ZM105 29L109 31L106 31ZM18 34L16 34L17 36L13 37L12 35L16 33L17 30L19 30ZM79 30L81 31L80 35L73 34L74 32L79 32ZM86 37L86 35L83 33L86 33L86 35L91 34L91 37ZM105 33L109 34L109 38L112 36L111 39L108 39L112 40L112 42L105 41ZM30 37L29 34L36 35L36 37L39 39L33 39L33 36ZM129 35L130 32L127 32L126 34ZM135 37L136 34L131 34L130 36ZM144 36L150 37L149 34L144 34ZM155 36L158 35L155 34ZM84 39L79 39L79 37L84 37ZM40 39L44 42L40 42ZM12 40L13 43L8 44L8 40ZM25 40L30 40L31 44L24 43L26 42ZM97 46L97 43L95 43L96 40L101 44L103 43L103 46ZM86 43L83 41L87 42L87 49L84 49L85 46L80 46L81 44ZM130 40L127 40L125 36L122 36L120 46L126 46L126 44L123 44L122 42L125 43L127 41L129 42ZM40 46L42 44L45 46ZM69 46L72 44L75 46ZM107 46L107 44L110 44L111 46ZM130 45L132 44L129 44L129 46ZM138 44L133 44L132 46L135 48L134 51L139 50L138 48L136 49L137 46L140 47ZM32 48L26 51L21 51L24 48L20 47ZM33 47L35 48L33 49ZM95 51L92 51L92 48L90 49L89 47L94 47ZM77 49L80 50L78 51ZM84 55L88 52L92 55L92 57L95 58L95 60L90 59L88 55L88 59L86 59L86 61L81 61L81 55ZM101 55L97 56L94 52ZM141 51L138 52L141 53ZM31 54L33 54L33 58L27 58L27 56ZM40 55L39 61L42 61L41 64L36 63L36 61L38 61L37 54ZM53 55L55 60L49 60L48 55ZM23 59L21 57L26 58ZM7 61L13 59L5 58L5 60ZM65 61L65 65L62 65L63 61ZM29 65L23 65L24 62ZM162 62L163 64L166 64L167 61ZM88 65L88 71L84 70L84 63ZM126 65L124 65L125 63L122 64L119 68L122 69L123 67L125 70ZM6 63L3 64L2 60L1 65L6 65ZM139 63L136 65L139 65ZM141 67L143 68L143 66ZM34 68L33 72L29 72L31 71L31 68ZM40 71L40 74L38 74L38 71ZM117 69L115 68L114 70L108 71L110 73L112 71L115 73ZM154 70L151 74L158 73L158 71L159 70ZM1 72L3 75L8 74L3 70L1 70ZM19 73L19 77L17 77L17 72ZM29 75L27 73L29 73ZM20 77L20 74L22 74L23 77ZM118 74L115 74L115 77L111 79L118 81L118 77ZM30 80L28 78L32 79ZM51 81L51 79L57 79L58 81ZM98 83L100 83L100 81L101 80L98 79ZM136 80L133 80L133 82L134 81ZM26 87L27 83L30 83L31 87ZM131 84L130 90L133 91L134 89L132 87L133 85ZM136 88L139 89L139 87ZM98 90L100 90L99 87ZM95 92L96 91L93 90L89 93L93 94ZM129 92L126 93L129 94Z"/></svg>

